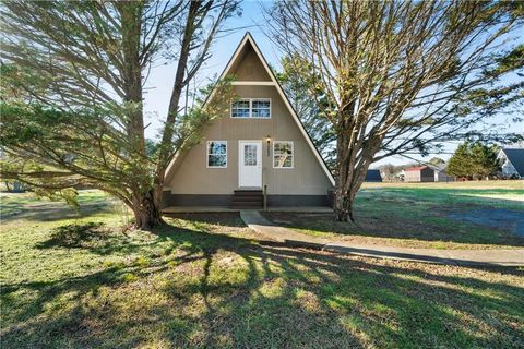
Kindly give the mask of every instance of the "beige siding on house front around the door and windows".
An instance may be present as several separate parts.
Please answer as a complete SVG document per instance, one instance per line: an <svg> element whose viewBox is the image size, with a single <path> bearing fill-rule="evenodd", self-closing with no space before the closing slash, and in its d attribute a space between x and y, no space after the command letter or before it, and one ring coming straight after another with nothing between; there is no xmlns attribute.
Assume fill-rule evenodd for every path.
<svg viewBox="0 0 524 349"><path fill-rule="evenodd" d="M257 69L259 70L259 69ZM274 86L235 86L239 97L271 98L271 119L233 119L229 113L210 124L201 143L175 163L167 185L174 194L231 194L238 189L238 141L262 141L263 183L269 194L324 195L330 180L307 144ZM293 169L274 169L273 147L267 156L266 136L293 141ZM206 167L206 141L227 141L227 168Z"/></svg>

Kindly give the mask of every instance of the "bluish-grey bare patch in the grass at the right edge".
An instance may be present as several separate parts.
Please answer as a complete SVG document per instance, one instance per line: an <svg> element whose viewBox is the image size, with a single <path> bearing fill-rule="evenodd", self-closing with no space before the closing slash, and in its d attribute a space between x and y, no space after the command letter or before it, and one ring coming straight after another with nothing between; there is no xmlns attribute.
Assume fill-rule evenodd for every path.
<svg viewBox="0 0 524 349"><path fill-rule="evenodd" d="M524 237L524 212L504 208L473 209L448 215L453 220L468 221L490 228L500 228Z"/></svg>

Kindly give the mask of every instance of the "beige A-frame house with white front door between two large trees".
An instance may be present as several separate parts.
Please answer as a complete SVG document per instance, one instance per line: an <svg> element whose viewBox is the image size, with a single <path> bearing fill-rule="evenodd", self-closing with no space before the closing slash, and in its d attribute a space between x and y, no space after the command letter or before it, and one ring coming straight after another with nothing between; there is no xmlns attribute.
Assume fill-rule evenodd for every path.
<svg viewBox="0 0 524 349"><path fill-rule="evenodd" d="M249 33L229 75L239 98L170 164L164 206L258 208L264 189L270 207L329 205L333 176Z"/></svg>

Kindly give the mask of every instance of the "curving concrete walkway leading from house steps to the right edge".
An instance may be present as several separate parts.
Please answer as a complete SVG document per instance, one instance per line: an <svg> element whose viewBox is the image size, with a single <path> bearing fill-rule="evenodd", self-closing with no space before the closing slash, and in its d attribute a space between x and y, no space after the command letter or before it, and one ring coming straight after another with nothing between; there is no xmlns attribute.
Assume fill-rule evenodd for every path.
<svg viewBox="0 0 524 349"><path fill-rule="evenodd" d="M271 241L291 246L311 248L340 253L349 253L378 258L392 258L452 265L502 265L524 266L524 250L434 250L407 249L373 244L354 244L345 241L307 236L278 227L265 219L258 210L240 210L246 225Z"/></svg>

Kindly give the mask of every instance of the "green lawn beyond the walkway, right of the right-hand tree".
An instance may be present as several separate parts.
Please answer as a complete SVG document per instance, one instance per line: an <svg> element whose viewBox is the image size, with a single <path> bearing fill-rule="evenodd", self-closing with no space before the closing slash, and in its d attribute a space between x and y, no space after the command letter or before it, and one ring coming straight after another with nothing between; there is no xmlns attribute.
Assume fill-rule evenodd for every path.
<svg viewBox="0 0 524 349"><path fill-rule="evenodd" d="M524 215L524 181L366 183L356 202L356 225L331 214L267 213L270 219L307 234L355 243L430 249L513 249L524 236L511 217L497 226L468 215ZM495 221L495 220L493 220ZM513 224L514 226L514 224Z"/></svg>

